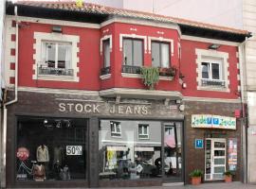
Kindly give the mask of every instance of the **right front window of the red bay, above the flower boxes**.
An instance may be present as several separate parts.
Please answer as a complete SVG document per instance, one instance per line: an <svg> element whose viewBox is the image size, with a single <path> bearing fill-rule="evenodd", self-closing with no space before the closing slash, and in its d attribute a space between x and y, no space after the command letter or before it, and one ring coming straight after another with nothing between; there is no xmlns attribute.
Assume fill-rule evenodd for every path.
<svg viewBox="0 0 256 189"><path fill-rule="evenodd" d="M152 42L151 43L152 65L154 67L170 67L170 44Z"/></svg>

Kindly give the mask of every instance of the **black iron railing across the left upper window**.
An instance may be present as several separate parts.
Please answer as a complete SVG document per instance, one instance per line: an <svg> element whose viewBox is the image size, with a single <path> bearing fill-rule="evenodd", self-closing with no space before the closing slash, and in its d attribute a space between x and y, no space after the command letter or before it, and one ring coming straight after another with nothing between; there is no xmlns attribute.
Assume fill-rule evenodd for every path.
<svg viewBox="0 0 256 189"><path fill-rule="evenodd" d="M51 68L51 67L39 67L38 75L51 75L51 76L74 76L73 69L65 68Z"/></svg>

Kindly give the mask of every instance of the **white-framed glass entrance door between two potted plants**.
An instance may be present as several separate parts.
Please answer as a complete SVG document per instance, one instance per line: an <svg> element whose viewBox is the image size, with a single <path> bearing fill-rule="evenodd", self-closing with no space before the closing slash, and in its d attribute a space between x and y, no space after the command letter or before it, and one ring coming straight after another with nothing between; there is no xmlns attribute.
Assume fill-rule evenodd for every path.
<svg viewBox="0 0 256 189"><path fill-rule="evenodd" d="M226 140L206 139L205 180L223 180L226 171Z"/></svg>

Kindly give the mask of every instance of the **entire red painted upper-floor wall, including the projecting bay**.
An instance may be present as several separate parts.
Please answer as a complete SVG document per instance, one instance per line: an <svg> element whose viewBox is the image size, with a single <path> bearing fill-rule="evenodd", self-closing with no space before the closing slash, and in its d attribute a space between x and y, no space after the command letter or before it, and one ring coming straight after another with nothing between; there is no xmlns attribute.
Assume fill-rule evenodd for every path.
<svg viewBox="0 0 256 189"><path fill-rule="evenodd" d="M137 30L131 30L136 28ZM159 33L163 32L163 33ZM19 86L64 88L78 90L99 91L111 88L136 88L146 89L141 78L129 78L121 76L122 51L119 49L120 34L137 34L140 36L162 37L174 40L174 56L171 57L171 64L180 68L185 76L184 81L187 88L182 89L176 76L173 81L160 80L156 90L179 91L185 96L238 98L237 95L237 47L221 45L218 51L229 53L229 89L230 93L198 91L196 89L196 55L195 48L207 49L210 43L199 43L188 40L181 40L181 60L178 58L179 34L171 28L160 28L154 26L140 26L122 23L114 23L103 26L101 29L82 28L75 26L63 26L63 33L80 36L78 47L80 77L79 82L68 81L46 81L32 79L33 69L33 35L34 32L51 32L51 25L28 23L28 26L19 28ZM111 77L101 80L100 72L103 66L103 54L100 53L101 38L105 35L112 35L113 46L110 56ZM144 54L144 65L151 66L151 54L149 51Z"/></svg>

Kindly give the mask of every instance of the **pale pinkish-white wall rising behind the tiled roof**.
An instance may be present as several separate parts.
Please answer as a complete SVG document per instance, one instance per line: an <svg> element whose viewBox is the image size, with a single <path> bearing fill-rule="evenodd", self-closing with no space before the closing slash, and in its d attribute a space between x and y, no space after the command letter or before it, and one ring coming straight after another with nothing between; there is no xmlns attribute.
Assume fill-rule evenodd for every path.
<svg viewBox="0 0 256 189"><path fill-rule="evenodd" d="M243 0L86 0L124 9L186 18L221 26L242 28Z"/></svg>

